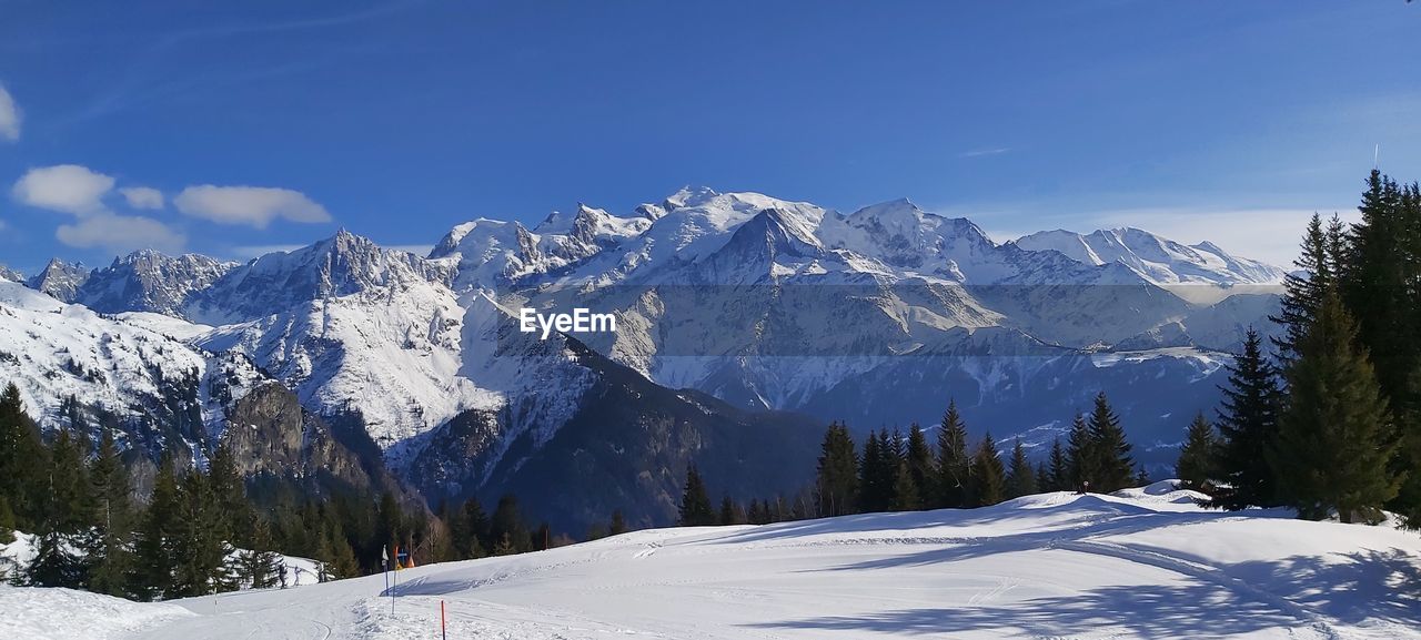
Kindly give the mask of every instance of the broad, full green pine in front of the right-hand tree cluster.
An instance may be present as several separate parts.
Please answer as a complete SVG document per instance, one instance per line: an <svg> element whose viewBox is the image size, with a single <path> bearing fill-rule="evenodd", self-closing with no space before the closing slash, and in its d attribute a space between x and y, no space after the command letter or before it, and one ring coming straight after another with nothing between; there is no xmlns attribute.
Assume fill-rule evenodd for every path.
<svg viewBox="0 0 1421 640"><path fill-rule="evenodd" d="M1268 460L1283 501L1302 518L1336 511L1343 522L1377 519L1401 484L1387 465L1395 451L1387 402L1354 338L1350 315L1329 289L1285 372L1289 404Z"/></svg>

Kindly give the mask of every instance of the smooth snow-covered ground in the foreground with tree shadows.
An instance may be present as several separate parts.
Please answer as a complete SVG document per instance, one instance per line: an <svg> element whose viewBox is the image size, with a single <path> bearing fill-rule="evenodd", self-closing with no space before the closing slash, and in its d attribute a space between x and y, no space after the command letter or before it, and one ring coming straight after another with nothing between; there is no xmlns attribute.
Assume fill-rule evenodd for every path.
<svg viewBox="0 0 1421 640"><path fill-rule="evenodd" d="M973 511L657 529L523 556L168 605L0 592L7 639L1405 639L1421 535L1195 508L1165 485ZM394 593L391 599L382 593ZM190 614L171 616L173 606ZM34 607L34 610L30 610ZM162 609L156 609L162 607ZM18 609L26 609L20 612ZM125 613L128 616L129 613ZM135 617L136 619L136 617Z"/></svg>

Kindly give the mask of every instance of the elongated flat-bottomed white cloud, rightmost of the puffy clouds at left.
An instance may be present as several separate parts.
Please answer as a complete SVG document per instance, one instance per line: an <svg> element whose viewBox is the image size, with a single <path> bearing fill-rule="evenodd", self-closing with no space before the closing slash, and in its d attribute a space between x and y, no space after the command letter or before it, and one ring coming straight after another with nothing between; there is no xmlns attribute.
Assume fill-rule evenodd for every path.
<svg viewBox="0 0 1421 640"><path fill-rule="evenodd" d="M266 228L271 220L327 223L330 211L301 192L274 187L219 187L200 184L173 197L179 211L220 224L250 224Z"/></svg>

